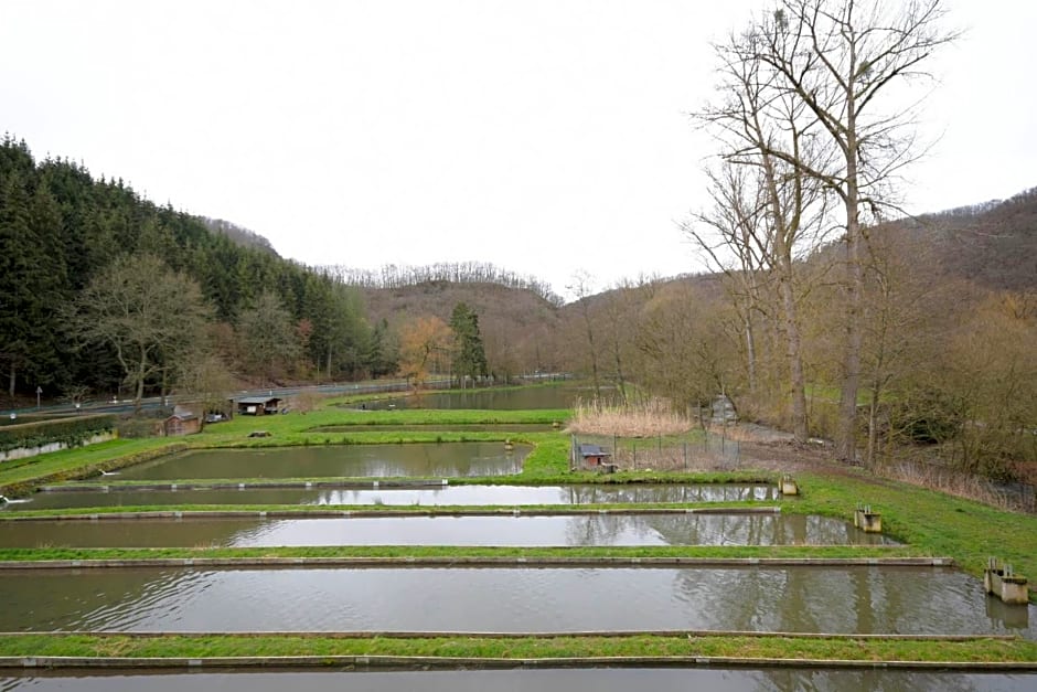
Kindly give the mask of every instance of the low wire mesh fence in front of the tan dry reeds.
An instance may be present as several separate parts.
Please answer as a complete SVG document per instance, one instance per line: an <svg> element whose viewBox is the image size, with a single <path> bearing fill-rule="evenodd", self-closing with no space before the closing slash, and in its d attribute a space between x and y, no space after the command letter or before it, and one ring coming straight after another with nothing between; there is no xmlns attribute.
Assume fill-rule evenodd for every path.
<svg viewBox="0 0 1037 692"><path fill-rule="evenodd" d="M741 460L741 444L721 433L619 437L573 435L569 468L599 470L731 470Z"/></svg>

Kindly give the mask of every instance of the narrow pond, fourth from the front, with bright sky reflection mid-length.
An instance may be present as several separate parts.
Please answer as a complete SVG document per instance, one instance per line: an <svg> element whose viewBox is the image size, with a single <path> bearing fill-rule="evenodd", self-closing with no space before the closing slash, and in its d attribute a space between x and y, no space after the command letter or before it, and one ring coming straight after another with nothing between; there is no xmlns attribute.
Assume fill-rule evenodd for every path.
<svg viewBox="0 0 1037 692"><path fill-rule="evenodd" d="M100 479L108 480L109 477ZM113 480L120 478L110 477ZM99 479L94 479L97 482ZM65 509L76 507L131 507L156 504L385 504L393 507L503 505L528 504L616 504L616 503L696 503L773 501L780 493L774 486L760 483L712 485L580 485L580 486L389 486L377 488L243 487L192 488L172 483L156 489L105 486L90 489L76 485L58 486L52 491L0 505L0 511ZM162 488L162 489L158 489Z"/></svg>

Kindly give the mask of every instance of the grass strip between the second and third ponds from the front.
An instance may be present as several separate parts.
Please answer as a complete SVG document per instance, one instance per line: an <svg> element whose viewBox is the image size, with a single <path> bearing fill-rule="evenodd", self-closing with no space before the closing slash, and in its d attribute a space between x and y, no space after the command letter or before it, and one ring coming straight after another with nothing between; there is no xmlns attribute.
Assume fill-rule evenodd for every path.
<svg viewBox="0 0 1037 692"><path fill-rule="evenodd" d="M907 545L692 545L605 547L514 547L452 545L344 545L296 547L4 547L0 561L42 560L169 560L246 557L372 557L372 558L607 558L683 557L728 558L883 558L934 557L923 549Z"/></svg>

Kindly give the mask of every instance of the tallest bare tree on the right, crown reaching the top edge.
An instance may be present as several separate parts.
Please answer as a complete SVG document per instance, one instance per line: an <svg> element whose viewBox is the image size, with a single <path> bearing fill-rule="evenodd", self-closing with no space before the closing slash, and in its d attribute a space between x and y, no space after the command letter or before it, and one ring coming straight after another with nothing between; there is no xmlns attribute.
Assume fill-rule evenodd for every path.
<svg viewBox="0 0 1037 692"><path fill-rule="evenodd" d="M892 183L920 155L911 128L917 102L906 102L896 89L927 76L920 65L955 38L941 29L943 14L942 0L780 0L770 17L733 42L728 58L759 74L763 104L793 99L800 141L811 143L814 158L788 147L794 141L788 138L767 140L763 152L842 202L845 322L837 455L847 461L856 459L866 228L896 204Z"/></svg>

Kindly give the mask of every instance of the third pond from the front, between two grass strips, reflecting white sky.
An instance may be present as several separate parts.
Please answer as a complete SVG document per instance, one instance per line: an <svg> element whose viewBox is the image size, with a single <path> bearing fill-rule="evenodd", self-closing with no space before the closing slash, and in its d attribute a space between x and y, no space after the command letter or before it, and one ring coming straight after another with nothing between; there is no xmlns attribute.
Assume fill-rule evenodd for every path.
<svg viewBox="0 0 1037 692"><path fill-rule="evenodd" d="M826 517L778 513L0 521L2 547L218 545L877 545Z"/></svg>

